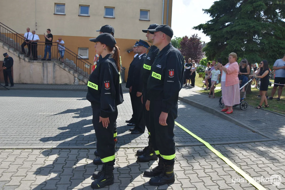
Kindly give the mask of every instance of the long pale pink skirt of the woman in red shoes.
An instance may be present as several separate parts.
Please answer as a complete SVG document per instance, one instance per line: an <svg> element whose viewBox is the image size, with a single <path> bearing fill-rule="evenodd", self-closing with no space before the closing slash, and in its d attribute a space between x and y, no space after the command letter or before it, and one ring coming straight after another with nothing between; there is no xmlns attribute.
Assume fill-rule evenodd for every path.
<svg viewBox="0 0 285 190"><path fill-rule="evenodd" d="M239 84L225 86L226 82L221 81L222 87L222 103L226 106L233 106L239 104L240 101L240 92L239 92Z"/></svg>

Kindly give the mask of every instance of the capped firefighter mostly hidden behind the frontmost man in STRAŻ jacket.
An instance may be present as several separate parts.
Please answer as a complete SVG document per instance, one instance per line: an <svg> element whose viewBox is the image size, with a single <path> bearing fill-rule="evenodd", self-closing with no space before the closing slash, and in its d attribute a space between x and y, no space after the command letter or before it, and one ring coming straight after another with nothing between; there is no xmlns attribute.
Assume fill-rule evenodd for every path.
<svg viewBox="0 0 285 190"><path fill-rule="evenodd" d="M147 100L146 95L146 85L147 80L150 75L150 69L154 62L154 59L156 58L156 55L158 54L159 49L153 45L152 37L154 34L149 33L149 29L155 29L158 26L158 24L150 24L148 29L143 30L144 33L146 33L147 41L150 42L151 47L150 50L147 53L146 58L144 59L142 71L141 71L141 80L143 81L143 95L142 95L142 102L144 107L144 122L146 124L146 128L148 130L148 146L146 146L143 150L138 150L137 155L139 157L137 158L138 162L148 162L150 160L157 160L157 156L154 152L154 149L152 148L151 138L150 138L150 123L149 123L149 111L145 108L145 103Z"/></svg>

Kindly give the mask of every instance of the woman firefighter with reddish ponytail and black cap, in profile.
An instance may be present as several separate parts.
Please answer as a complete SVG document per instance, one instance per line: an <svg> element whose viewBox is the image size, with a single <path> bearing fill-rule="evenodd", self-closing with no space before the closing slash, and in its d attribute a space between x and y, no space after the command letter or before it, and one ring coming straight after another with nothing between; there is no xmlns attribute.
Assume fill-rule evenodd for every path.
<svg viewBox="0 0 285 190"><path fill-rule="evenodd" d="M93 189L100 189L114 183L115 142L113 131L118 116L117 105L123 103L120 93L120 56L116 40L109 33L100 34L90 41L95 42L98 54L102 56L88 81L86 99L91 102L92 123L97 138L97 151L103 162L102 169L93 173L96 181ZM115 47L115 52L111 52Z"/></svg>

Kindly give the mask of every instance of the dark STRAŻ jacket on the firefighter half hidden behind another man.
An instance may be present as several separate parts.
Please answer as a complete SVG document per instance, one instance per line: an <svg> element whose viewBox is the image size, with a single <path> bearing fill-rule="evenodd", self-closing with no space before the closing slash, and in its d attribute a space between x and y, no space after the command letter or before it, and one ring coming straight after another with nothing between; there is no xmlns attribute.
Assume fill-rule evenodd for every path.
<svg viewBox="0 0 285 190"><path fill-rule="evenodd" d="M156 58L158 54L158 51L159 49L156 46L151 46L143 62L143 68L141 71L141 80L143 81L144 97L146 97L146 85L147 85L148 77L150 75L150 69L154 62L154 59Z"/></svg>

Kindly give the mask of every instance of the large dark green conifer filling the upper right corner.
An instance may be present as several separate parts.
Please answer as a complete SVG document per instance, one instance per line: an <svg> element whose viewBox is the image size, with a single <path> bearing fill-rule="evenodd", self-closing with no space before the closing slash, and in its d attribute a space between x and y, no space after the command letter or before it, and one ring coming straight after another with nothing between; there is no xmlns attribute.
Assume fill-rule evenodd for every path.
<svg viewBox="0 0 285 190"><path fill-rule="evenodd" d="M285 0L220 0L203 11L212 18L193 27L211 38L203 48L210 60L231 52L250 64L268 60L270 64L285 52Z"/></svg>

